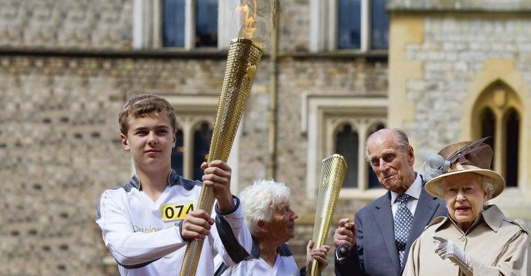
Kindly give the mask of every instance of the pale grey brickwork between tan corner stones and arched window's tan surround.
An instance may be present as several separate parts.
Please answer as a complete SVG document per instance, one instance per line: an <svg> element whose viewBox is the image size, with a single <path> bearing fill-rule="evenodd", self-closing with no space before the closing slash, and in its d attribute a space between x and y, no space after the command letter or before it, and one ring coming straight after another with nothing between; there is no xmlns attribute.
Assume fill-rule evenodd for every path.
<svg viewBox="0 0 531 276"><path fill-rule="evenodd" d="M406 49L407 58L422 61L424 68L422 79L407 81L416 117L404 126L418 140L420 156L458 141L469 84L488 59L514 60L514 67L530 83L531 39L526 35L530 27L531 21L518 17L425 19L424 41Z"/></svg>

